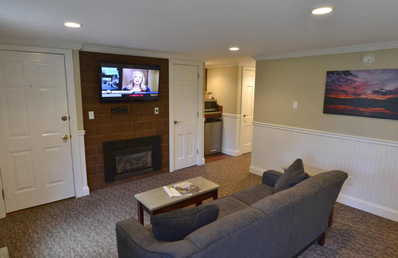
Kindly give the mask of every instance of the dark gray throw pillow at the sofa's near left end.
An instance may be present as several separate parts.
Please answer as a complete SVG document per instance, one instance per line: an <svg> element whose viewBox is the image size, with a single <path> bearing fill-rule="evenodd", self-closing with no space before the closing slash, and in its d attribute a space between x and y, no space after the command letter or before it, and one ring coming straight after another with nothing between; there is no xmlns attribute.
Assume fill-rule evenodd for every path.
<svg viewBox="0 0 398 258"><path fill-rule="evenodd" d="M182 240L200 227L215 221L218 212L216 205L199 205L161 213L151 218L152 233L159 240Z"/></svg>

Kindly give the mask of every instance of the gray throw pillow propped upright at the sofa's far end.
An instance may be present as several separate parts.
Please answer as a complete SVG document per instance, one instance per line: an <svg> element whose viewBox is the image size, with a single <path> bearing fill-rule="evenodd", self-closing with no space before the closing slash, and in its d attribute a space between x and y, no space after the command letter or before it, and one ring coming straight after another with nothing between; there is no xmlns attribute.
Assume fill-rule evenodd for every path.
<svg viewBox="0 0 398 258"><path fill-rule="evenodd" d="M302 160L297 159L275 183L274 194L292 188L307 178L308 174L304 172Z"/></svg>

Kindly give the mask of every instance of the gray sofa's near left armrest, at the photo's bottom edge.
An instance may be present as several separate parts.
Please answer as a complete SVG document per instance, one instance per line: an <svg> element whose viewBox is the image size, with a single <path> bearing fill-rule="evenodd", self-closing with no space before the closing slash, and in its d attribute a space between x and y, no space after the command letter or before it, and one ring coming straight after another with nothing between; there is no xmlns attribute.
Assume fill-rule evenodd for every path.
<svg viewBox="0 0 398 258"><path fill-rule="evenodd" d="M119 258L189 257L198 251L188 240L166 242L156 239L134 218L116 223L117 254Z"/></svg>

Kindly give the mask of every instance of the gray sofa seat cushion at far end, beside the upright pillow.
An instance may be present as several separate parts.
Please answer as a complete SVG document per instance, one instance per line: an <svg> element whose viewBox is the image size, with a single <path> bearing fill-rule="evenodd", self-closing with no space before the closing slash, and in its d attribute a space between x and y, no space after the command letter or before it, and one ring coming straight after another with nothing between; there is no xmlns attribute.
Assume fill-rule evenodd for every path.
<svg viewBox="0 0 398 258"><path fill-rule="evenodd" d="M273 187L265 184L257 184L232 194L232 197L235 197L250 206L271 194L274 194Z"/></svg>

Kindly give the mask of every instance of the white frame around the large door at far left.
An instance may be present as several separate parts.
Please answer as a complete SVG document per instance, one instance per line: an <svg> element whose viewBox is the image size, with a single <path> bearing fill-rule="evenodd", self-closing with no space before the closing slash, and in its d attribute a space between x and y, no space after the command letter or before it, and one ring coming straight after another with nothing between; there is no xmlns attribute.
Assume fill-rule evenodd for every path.
<svg viewBox="0 0 398 258"><path fill-rule="evenodd" d="M84 148L84 131L78 131L78 118L76 107L76 93L74 80L74 67L72 50L69 49L55 49L44 47L18 46L0 44L0 50L25 51L36 53L61 54L65 57L65 72L66 72L66 89L68 94L68 111L69 111L69 126L71 132L72 145L72 162L73 162L73 177L75 181L75 196L81 197L89 194L87 187L86 174L86 154ZM83 142L82 142L83 141ZM0 146L1 148L1 146ZM1 176L1 168L0 168ZM0 179L1 183L1 179ZM0 184L2 191L2 185ZM1 195L0 195L1 196ZM5 203L2 196L0 197L0 218L5 217Z"/></svg>

